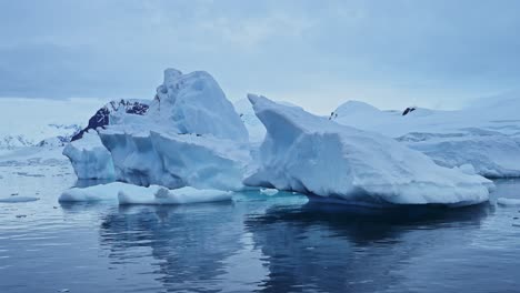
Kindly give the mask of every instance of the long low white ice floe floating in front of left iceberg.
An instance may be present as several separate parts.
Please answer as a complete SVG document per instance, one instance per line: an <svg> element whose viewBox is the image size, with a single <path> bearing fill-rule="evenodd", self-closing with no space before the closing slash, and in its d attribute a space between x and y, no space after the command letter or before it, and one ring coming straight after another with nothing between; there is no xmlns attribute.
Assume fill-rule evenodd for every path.
<svg viewBox="0 0 520 293"><path fill-rule="evenodd" d="M112 182L64 191L60 202L119 201L119 204L186 204L231 200L232 192L181 188L169 190L159 185L148 188Z"/></svg>

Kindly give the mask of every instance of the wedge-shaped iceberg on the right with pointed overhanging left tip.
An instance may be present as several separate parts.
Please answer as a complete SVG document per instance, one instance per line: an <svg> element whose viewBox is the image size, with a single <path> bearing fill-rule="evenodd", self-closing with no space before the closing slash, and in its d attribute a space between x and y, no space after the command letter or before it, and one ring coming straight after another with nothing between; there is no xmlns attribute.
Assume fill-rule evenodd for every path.
<svg viewBox="0 0 520 293"><path fill-rule="evenodd" d="M354 204L467 205L487 201L492 183L378 133L340 125L302 109L249 95L267 129L260 168L247 185Z"/></svg>

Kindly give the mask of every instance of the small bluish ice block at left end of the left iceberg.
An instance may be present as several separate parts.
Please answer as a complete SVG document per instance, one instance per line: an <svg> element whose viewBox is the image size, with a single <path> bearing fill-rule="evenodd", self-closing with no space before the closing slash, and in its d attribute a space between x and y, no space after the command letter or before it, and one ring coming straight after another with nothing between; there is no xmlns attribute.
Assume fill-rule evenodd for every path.
<svg viewBox="0 0 520 293"><path fill-rule="evenodd" d="M67 144L63 154L72 163L78 179L113 179L116 176L112 156L94 130L83 133L80 140Z"/></svg>

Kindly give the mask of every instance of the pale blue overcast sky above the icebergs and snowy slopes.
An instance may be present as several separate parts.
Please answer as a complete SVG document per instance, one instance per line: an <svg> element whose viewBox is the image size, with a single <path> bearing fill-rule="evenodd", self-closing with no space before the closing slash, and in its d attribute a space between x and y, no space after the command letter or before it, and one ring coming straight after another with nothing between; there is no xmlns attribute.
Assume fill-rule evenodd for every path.
<svg viewBox="0 0 520 293"><path fill-rule="evenodd" d="M0 0L0 99L151 99L166 68L328 113L517 90L516 0ZM492 98L489 98L492 99Z"/></svg>

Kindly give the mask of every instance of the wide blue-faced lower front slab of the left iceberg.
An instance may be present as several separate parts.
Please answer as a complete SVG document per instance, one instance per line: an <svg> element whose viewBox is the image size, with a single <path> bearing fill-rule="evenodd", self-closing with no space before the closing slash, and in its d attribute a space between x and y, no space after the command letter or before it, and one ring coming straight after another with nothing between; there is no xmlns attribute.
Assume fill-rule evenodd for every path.
<svg viewBox="0 0 520 293"><path fill-rule="evenodd" d="M168 188L242 189L249 161L247 144L116 125L100 132L112 154L118 180Z"/></svg>

